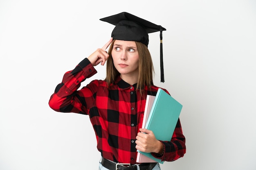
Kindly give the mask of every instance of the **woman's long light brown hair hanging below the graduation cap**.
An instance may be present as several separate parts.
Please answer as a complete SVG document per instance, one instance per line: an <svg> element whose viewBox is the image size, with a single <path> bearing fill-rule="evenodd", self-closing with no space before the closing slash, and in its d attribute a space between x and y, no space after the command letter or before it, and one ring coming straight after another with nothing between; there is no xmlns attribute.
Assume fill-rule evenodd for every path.
<svg viewBox="0 0 256 170"><path fill-rule="evenodd" d="M111 54L114 43L115 43L115 40L112 41L110 48L108 50L109 57L106 64L107 74L106 74L105 81L107 82L108 87L110 87L110 85L115 82L115 79L117 78L117 76L120 75L120 73L117 71L117 69L114 66L114 62ZM135 44L137 46L138 53L139 53L139 76L137 81L137 90L139 90L141 96L143 96L145 86L148 86L150 88L150 86L153 85L154 67L153 67L153 61L147 46L137 41L135 41Z"/></svg>

